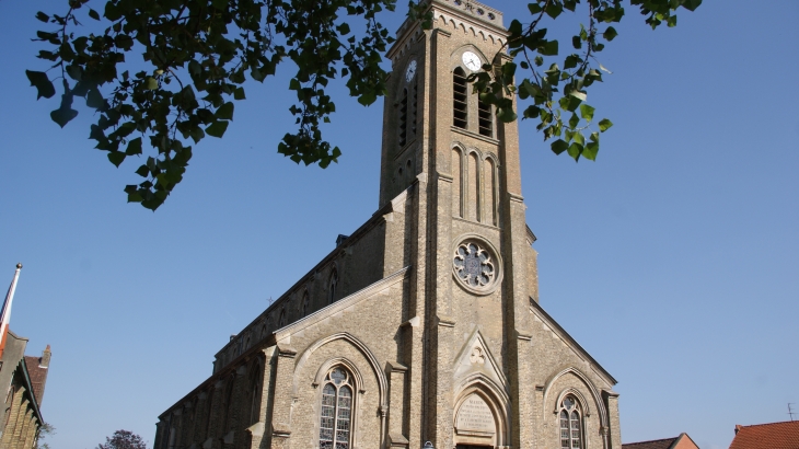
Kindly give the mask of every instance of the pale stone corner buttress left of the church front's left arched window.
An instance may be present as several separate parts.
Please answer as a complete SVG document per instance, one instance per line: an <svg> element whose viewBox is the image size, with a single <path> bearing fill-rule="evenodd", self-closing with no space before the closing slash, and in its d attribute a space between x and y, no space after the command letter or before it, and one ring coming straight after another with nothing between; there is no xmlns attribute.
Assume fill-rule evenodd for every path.
<svg viewBox="0 0 799 449"><path fill-rule="evenodd" d="M278 344L277 352L275 400L271 408L271 448L289 449L291 447L291 402L293 401L297 350L291 346Z"/></svg>

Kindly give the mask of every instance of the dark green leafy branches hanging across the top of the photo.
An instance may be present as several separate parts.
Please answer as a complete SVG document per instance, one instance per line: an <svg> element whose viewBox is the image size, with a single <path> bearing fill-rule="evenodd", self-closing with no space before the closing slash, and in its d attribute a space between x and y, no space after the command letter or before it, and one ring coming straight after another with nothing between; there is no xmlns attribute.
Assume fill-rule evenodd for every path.
<svg viewBox="0 0 799 449"><path fill-rule="evenodd" d="M125 192L128 202L154 210L183 179L193 145L224 135L235 101L246 97L244 84L263 82L287 60L297 67L289 83L297 95L290 107L297 129L283 136L278 152L322 168L336 162L340 150L320 129L335 112L325 88L343 78L363 105L385 94L382 54L393 37L375 14L393 11L395 1L106 0L101 13L89 0L68 0L62 15L36 14L48 25L37 32L37 39L48 45L38 58L51 67L26 73L37 99L55 96L59 89L54 81L60 84L59 107L50 113L59 126L78 115L76 97L96 112L90 138L114 165L147 152L136 170L143 181ZM544 139L553 139L555 153L594 160L599 134L613 124L601 119L591 131L594 108L586 99L588 88L607 72L595 55L617 35L610 24L622 20L628 3L652 28L674 26L679 8L693 11L700 2L535 0L528 5L531 21L513 20L509 26L507 48L500 51L509 57L497 54L470 81L484 102L496 106L500 120L517 119L511 99L518 94L531 103L522 117L537 122ZM409 7L412 20L432 26L426 2ZM587 10L587 24L571 38L574 51L558 64L561 46L541 25L545 18L578 7ZM97 21L100 32L76 33L88 20Z"/></svg>

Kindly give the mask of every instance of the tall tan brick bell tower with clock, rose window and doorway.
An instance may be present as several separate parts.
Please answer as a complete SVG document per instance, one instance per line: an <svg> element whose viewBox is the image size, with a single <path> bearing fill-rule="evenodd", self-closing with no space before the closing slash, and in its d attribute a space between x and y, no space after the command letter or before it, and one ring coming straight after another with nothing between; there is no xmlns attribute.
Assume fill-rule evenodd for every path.
<svg viewBox="0 0 799 449"><path fill-rule="evenodd" d="M409 434L436 448L529 447L533 410L520 398L534 392L519 379L533 359L537 278L517 123L499 122L467 82L508 58L508 32L501 12L475 1L431 0L429 11L432 28L406 21L387 54L380 183L381 207L404 197L412 210L408 316L420 329L405 343L422 404ZM482 371L468 368L473 354ZM468 406L494 430L470 428Z"/></svg>

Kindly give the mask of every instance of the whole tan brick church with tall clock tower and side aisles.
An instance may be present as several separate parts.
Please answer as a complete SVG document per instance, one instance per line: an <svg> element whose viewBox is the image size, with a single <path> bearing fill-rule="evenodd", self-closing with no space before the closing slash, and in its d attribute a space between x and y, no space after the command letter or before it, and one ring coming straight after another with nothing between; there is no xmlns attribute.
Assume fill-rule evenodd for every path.
<svg viewBox="0 0 799 449"><path fill-rule="evenodd" d="M387 53L378 211L231 337L155 449L621 449L615 379L539 304L518 124L466 82L502 14L431 8Z"/></svg>

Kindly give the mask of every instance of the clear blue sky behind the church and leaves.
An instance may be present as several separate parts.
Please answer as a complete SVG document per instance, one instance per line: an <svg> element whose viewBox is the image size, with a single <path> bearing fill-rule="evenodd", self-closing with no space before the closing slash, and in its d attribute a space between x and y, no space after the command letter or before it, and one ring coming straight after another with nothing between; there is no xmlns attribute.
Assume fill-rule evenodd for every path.
<svg viewBox="0 0 799 449"><path fill-rule="evenodd" d="M151 442L229 335L375 210L382 103L340 97L326 133L344 156L304 168L276 152L289 68L251 83L153 214L125 203L137 162L92 150L90 113L59 129L27 87L44 67L34 13L63 4L0 2L0 286L25 265L11 327L31 355L53 345L53 447L119 428ZM727 448L736 424L799 408L798 15L796 1L706 0L652 32L628 9L600 58L613 74L589 92L615 123L598 161L556 157L522 124L541 303L619 381L625 442L686 431Z"/></svg>

